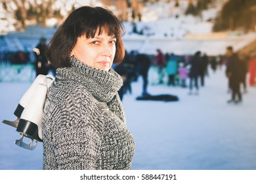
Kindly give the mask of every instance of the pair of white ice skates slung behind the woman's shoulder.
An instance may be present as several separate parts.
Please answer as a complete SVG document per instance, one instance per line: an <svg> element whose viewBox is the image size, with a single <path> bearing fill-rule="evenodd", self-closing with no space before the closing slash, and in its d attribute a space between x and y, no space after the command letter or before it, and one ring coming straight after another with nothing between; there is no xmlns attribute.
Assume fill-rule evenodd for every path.
<svg viewBox="0 0 256 183"><path fill-rule="evenodd" d="M21 138L15 144L28 150L34 150L37 142L42 142L41 123L43 117L43 107L47 90L54 81L51 75L38 75L32 85L20 99L14 115L17 119L14 122L3 120L4 124L16 127ZM23 138L31 139L30 144L23 142ZM35 140L35 143L33 141Z"/></svg>

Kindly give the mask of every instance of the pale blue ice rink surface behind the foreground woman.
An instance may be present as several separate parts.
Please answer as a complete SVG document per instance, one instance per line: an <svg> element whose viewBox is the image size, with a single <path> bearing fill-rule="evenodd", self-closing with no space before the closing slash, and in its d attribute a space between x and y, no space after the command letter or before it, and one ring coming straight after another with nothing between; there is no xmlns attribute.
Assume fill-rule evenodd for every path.
<svg viewBox="0 0 256 183"><path fill-rule="evenodd" d="M137 101L142 78L125 94L123 106L127 127L136 150L132 169L225 170L256 169L256 88L248 87L241 105L228 105L227 80L223 69L210 71L199 95L187 88L152 85L152 94L177 95L177 102ZM31 82L0 82L0 120L15 120L14 110ZM20 135L0 124L0 169L42 169L42 143L35 150L14 144Z"/></svg>

